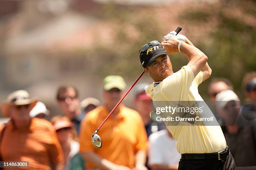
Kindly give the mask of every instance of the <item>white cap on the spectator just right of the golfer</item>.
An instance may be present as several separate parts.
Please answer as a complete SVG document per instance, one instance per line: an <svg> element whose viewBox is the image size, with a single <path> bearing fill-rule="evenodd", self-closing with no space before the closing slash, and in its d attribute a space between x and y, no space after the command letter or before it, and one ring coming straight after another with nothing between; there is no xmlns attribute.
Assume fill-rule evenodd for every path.
<svg viewBox="0 0 256 170"><path fill-rule="evenodd" d="M233 90L223 90L216 95L216 105L219 108L225 107L229 101L240 101Z"/></svg>

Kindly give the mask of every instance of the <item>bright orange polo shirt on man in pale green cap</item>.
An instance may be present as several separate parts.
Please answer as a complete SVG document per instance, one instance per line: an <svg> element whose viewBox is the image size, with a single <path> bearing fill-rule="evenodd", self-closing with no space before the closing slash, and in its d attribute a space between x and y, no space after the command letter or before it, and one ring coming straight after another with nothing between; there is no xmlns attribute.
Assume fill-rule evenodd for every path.
<svg viewBox="0 0 256 170"><path fill-rule="evenodd" d="M120 105L120 112L113 118L110 116L97 133L102 140L102 148L92 145L92 133L109 114L105 105L88 112L80 128L80 152L94 151L101 158L112 163L135 167L135 154L138 150L147 149L147 135L141 116L135 110ZM96 168L86 161L87 168Z"/></svg>

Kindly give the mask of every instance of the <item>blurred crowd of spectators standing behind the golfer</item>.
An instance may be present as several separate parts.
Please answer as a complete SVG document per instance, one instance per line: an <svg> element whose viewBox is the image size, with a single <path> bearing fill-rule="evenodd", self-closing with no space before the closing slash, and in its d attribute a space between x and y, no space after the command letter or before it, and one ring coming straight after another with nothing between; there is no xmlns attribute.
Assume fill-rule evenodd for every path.
<svg viewBox="0 0 256 170"><path fill-rule="evenodd" d="M102 148L92 145L91 136L123 96L123 77L105 77L103 102L92 97L80 101L76 87L61 85L56 89L61 114L54 117L27 91L12 92L1 105L2 113L10 117L0 127L1 161L28 161L29 169L44 170L177 170L176 141L164 123L151 119L146 85L134 87L135 110L120 104L97 133ZM213 78L208 95L216 101L213 113L236 166L256 166L256 72L245 75L242 89L246 101L251 101L246 107L225 78ZM239 123L245 121L251 126Z"/></svg>

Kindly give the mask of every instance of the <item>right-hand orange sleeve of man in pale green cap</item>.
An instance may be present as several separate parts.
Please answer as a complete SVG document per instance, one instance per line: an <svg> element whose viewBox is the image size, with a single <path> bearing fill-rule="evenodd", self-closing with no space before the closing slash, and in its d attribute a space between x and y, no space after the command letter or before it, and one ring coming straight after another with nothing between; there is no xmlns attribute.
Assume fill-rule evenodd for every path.
<svg viewBox="0 0 256 170"><path fill-rule="evenodd" d="M148 137L147 137L147 133L146 133L146 129L143 125L142 119L141 117L138 115L138 128L137 128L137 144L135 146L136 152L138 150L147 150L148 145L147 145L147 141L148 141Z"/></svg>

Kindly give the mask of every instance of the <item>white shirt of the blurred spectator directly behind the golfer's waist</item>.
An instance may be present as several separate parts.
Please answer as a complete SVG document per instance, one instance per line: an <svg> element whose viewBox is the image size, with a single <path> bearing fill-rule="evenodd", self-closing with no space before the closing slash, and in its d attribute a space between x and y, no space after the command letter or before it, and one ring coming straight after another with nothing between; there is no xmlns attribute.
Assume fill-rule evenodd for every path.
<svg viewBox="0 0 256 170"><path fill-rule="evenodd" d="M180 154L176 149L177 141L168 136L167 130L160 130L152 133L149 138L149 165L177 164L180 160Z"/></svg>

